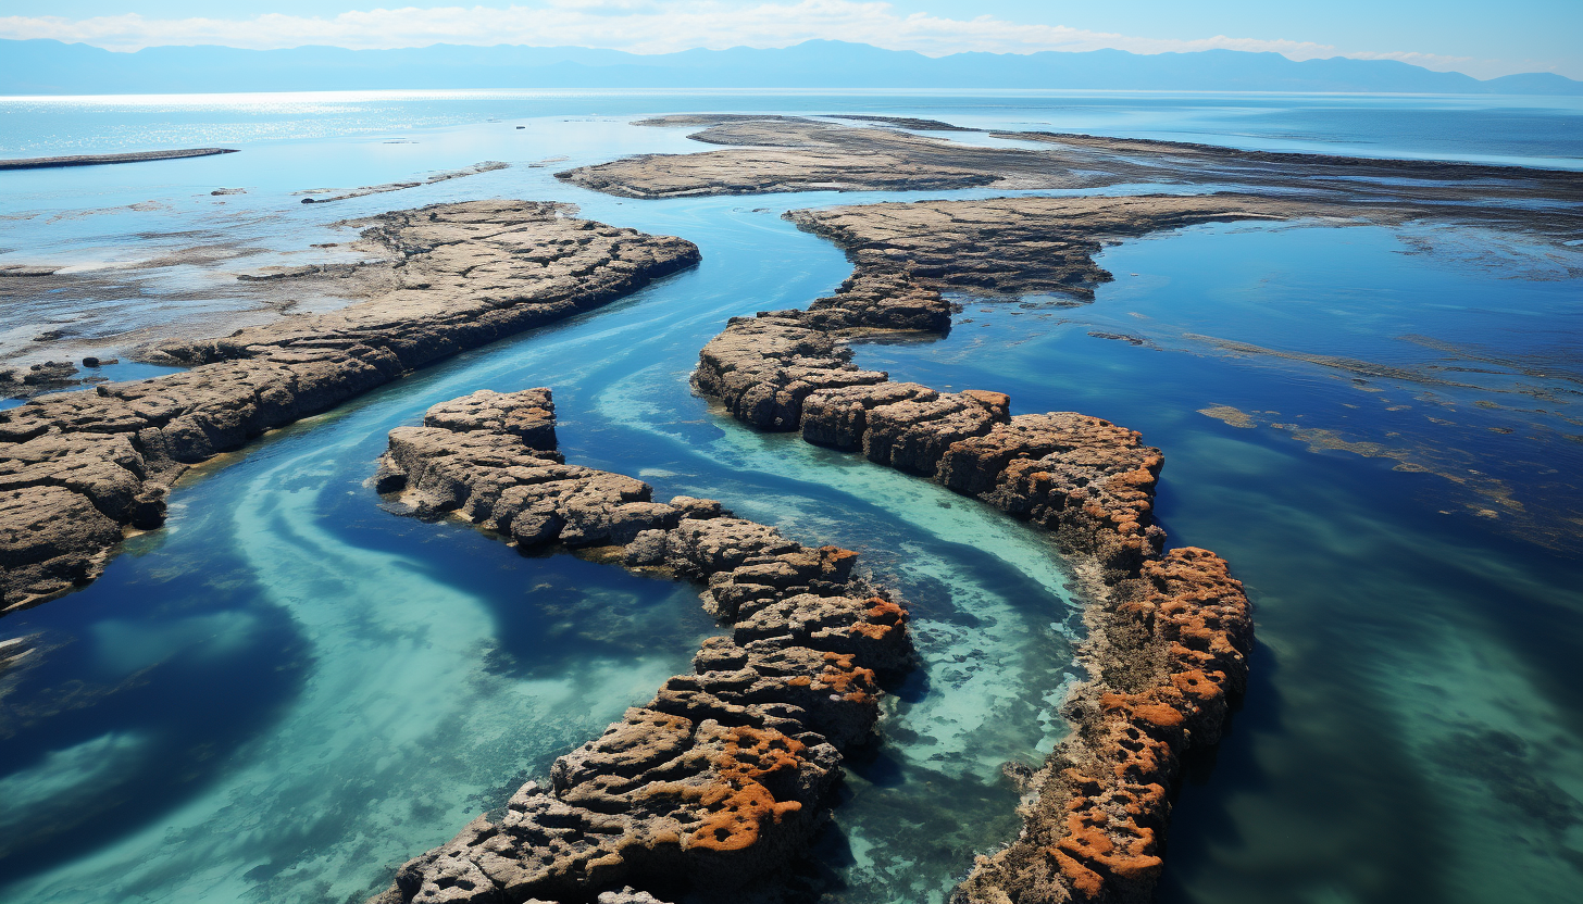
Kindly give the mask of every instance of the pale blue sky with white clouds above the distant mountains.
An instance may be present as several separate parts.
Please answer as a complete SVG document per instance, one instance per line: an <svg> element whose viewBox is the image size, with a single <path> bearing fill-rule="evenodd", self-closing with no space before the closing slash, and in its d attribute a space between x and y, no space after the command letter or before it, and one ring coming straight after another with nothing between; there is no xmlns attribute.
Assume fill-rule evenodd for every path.
<svg viewBox="0 0 1583 904"><path fill-rule="evenodd" d="M0 38L112 51L161 44L418 47L533 44L640 54L784 47L810 38L929 55L1227 47L1393 59L1477 78L1583 79L1583 0L0 0Z"/></svg>

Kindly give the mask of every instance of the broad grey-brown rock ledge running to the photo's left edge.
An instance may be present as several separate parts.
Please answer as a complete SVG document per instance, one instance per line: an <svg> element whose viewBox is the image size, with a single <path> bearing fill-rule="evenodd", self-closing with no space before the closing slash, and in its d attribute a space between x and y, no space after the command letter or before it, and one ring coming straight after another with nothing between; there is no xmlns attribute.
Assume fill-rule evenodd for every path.
<svg viewBox="0 0 1583 904"><path fill-rule="evenodd" d="M158 527L188 465L456 351L608 304L692 266L687 241L473 201L369 220L396 288L155 358L190 370L0 412L0 610L92 581L123 529Z"/></svg>

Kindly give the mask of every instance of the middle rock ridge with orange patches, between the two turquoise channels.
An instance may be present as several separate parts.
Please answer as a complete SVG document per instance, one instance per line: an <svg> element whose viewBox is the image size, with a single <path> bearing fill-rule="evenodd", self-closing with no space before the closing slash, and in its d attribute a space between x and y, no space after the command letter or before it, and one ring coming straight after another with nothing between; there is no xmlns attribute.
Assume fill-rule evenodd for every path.
<svg viewBox="0 0 1583 904"><path fill-rule="evenodd" d="M806 849L841 752L874 733L875 673L912 660L905 610L853 576L855 553L809 549L719 502L654 502L646 483L554 450L549 389L486 389L391 431L377 484L415 515L453 513L521 549L597 548L698 581L731 633L370 904L730 893Z"/></svg>

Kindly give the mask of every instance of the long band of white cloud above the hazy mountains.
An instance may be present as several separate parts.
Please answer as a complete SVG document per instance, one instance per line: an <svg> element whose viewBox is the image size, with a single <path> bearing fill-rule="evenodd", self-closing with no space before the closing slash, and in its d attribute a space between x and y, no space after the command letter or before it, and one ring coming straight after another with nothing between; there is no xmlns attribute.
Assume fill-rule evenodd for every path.
<svg viewBox="0 0 1583 904"><path fill-rule="evenodd" d="M363 9L334 17L263 14L252 19L147 19L138 14L66 19L3 16L3 38L55 38L112 51L163 44L225 44L274 49L332 44L353 49L448 44L584 46L662 54L690 47L784 47L810 38L858 41L928 55L961 51L1027 54L1114 47L1137 54L1181 51L1268 51L1293 60L1349 55L1398 59L1434 70L1466 66L1466 57L1418 52L1342 52L1328 44L1289 40L1138 38L1065 25L1010 22L993 16L945 19L901 14L890 3L858 0L541 0L535 6L437 6ZM1494 63L1494 60L1479 60ZM1486 68L1486 66L1480 66Z"/></svg>

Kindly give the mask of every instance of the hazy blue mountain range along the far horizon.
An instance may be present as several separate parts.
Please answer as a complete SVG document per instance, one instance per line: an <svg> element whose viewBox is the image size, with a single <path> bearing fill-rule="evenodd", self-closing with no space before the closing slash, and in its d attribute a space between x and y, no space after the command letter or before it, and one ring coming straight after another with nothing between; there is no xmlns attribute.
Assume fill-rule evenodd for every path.
<svg viewBox="0 0 1583 904"><path fill-rule="evenodd" d="M1583 95L1553 73L1480 81L1395 60L1293 62L1279 54L1126 51L926 57L844 41L638 55L589 47L399 51L147 47L0 41L0 93L166 93L367 89L1111 89Z"/></svg>

